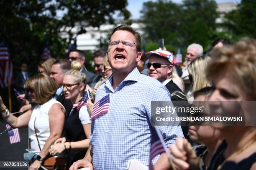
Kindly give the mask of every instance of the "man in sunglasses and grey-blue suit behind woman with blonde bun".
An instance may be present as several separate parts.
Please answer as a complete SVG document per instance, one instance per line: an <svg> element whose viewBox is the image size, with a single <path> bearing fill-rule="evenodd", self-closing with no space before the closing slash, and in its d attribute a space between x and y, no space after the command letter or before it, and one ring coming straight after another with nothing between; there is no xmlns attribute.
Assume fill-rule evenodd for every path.
<svg viewBox="0 0 256 170"><path fill-rule="evenodd" d="M72 50L69 52L69 61L78 61L84 66L85 60L86 60L85 54L82 50ZM82 68L80 71L86 75L87 84L91 85L91 83L96 75L94 73L90 72L89 70L86 70L85 67Z"/></svg>

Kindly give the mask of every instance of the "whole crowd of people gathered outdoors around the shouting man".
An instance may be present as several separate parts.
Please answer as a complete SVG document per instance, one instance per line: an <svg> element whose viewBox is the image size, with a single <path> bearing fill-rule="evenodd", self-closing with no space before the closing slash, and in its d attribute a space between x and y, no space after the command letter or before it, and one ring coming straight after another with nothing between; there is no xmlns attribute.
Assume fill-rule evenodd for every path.
<svg viewBox="0 0 256 170"><path fill-rule="evenodd" d="M40 61L33 77L22 65L17 99L23 114L18 117L0 97L4 120L29 129L31 148L24 158L30 170L46 165L58 170L125 170L134 162L135 167L152 168L151 144L159 133L151 119L151 101L172 107L176 102L182 107L218 101L217 110L224 101L256 100L255 39L233 44L218 39L205 55L194 43L187 47L183 65L175 65L175 55L168 50L143 54L140 34L120 25L110 35L108 49L96 50L92 57L95 73L84 67L81 50L70 51L68 60ZM229 104L226 113L234 109ZM174 122L157 126L168 154L153 159L155 170L256 170L254 126Z"/></svg>

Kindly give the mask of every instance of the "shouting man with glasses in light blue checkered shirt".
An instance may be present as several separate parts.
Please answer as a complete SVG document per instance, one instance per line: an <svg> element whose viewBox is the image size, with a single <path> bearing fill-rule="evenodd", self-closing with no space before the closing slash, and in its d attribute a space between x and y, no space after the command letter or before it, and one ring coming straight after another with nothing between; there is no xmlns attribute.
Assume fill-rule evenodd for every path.
<svg viewBox="0 0 256 170"><path fill-rule="evenodd" d="M108 62L113 70L96 93L95 103L110 95L107 113L92 119L91 153L75 162L70 170L80 166L95 170L125 170L128 161L137 159L149 165L151 145L151 101L170 101L164 85L136 68L141 59L141 37L128 25L113 30L108 41ZM176 114L176 113L175 113ZM166 146L183 138L180 126L159 126ZM162 154L156 165L163 169L166 156ZM167 160L167 159L166 159ZM162 166L162 167L161 167Z"/></svg>

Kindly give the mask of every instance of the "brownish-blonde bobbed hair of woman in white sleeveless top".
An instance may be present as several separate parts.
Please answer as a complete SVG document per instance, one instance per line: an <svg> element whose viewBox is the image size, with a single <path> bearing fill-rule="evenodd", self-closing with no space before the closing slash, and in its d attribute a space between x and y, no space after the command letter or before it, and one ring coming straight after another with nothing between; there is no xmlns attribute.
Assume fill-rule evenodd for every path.
<svg viewBox="0 0 256 170"><path fill-rule="evenodd" d="M35 91L36 101L39 105L48 102L54 95L58 86L49 76L38 74L28 79L25 85L26 88L31 88Z"/></svg>

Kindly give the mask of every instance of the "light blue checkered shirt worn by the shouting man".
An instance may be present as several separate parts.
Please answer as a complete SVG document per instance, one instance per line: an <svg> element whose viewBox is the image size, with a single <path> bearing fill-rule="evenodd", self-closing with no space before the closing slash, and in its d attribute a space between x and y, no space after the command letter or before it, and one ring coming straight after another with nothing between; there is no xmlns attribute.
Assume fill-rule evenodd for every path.
<svg viewBox="0 0 256 170"><path fill-rule="evenodd" d="M101 85L95 103L110 94L107 114L92 120L92 164L95 170L125 170L130 159L149 165L151 145L151 101L170 101L170 94L158 80L134 68L113 89L113 77ZM159 126L167 146L183 138L180 126Z"/></svg>

